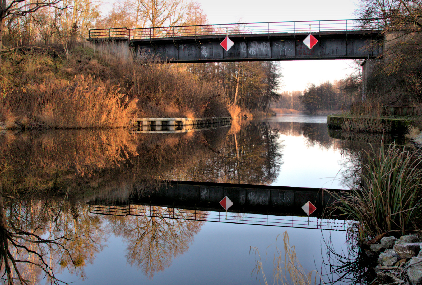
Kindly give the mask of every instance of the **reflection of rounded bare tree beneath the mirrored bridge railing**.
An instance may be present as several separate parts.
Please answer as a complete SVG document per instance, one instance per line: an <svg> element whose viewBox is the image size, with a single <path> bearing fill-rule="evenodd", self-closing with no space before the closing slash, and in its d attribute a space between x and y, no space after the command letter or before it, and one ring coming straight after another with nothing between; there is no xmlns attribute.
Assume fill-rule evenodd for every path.
<svg viewBox="0 0 422 285"><path fill-rule="evenodd" d="M131 209L144 212L149 206L131 205ZM122 237L126 243L126 258L151 278L155 272L171 265L173 258L188 250L194 236L200 231L202 221L170 219L165 216L176 215L191 218L193 211L151 207L153 217L148 216L108 216L111 231ZM198 212L196 213L198 218ZM207 213L201 212L203 218ZM200 217L199 217L200 218Z"/></svg>

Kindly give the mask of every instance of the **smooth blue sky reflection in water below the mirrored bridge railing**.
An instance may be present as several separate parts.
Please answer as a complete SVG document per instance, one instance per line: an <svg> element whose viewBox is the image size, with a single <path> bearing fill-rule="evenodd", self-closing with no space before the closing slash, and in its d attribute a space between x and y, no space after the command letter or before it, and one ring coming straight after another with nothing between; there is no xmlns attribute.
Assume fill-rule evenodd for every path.
<svg viewBox="0 0 422 285"><path fill-rule="evenodd" d="M156 272L151 279L135 266L127 264L126 247L122 239L114 236L96 256L94 264L86 267L84 282L81 278L74 280L75 276L70 274L62 274L60 279L75 281L73 284L260 284L255 276L251 278L256 261L249 248L253 246L260 250L265 275L271 281L276 237L286 230L290 245L295 245L305 270L321 268L321 252L325 255L326 248L323 237L327 239L331 236L339 250L346 241L344 231L208 222L195 236L189 250L174 258L170 267ZM278 247L283 248L282 235L278 239ZM264 284L262 280L261 283Z"/></svg>

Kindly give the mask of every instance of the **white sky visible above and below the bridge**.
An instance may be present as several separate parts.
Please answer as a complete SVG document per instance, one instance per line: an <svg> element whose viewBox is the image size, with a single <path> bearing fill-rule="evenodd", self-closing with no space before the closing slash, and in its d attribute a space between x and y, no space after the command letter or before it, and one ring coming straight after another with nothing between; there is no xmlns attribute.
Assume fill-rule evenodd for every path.
<svg viewBox="0 0 422 285"><path fill-rule="evenodd" d="M210 24L355 19L358 0L197 0ZM306 84L340 80L352 73L351 60L281 61L284 87L303 91Z"/></svg>

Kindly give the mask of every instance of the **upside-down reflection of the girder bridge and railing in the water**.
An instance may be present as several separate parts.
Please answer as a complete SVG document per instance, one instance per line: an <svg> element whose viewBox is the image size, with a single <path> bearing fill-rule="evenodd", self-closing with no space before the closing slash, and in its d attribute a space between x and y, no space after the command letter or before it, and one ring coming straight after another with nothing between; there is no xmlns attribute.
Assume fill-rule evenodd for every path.
<svg viewBox="0 0 422 285"><path fill-rule="evenodd" d="M334 189L186 181L160 183L159 188L135 194L125 202L89 201L89 212L336 231L346 231L350 223L322 218L324 209L334 202L328 191L339 191ZM219 204L224 196L234 202L227 212ZM301 209L308 201L317 207L311 217Z"/></svg>

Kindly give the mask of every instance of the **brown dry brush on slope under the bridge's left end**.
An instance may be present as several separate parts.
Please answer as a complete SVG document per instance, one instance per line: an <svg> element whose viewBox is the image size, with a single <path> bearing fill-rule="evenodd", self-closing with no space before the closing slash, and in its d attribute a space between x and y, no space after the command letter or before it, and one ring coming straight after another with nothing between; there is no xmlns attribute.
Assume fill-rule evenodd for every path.
<svg viewBox="0 0 422 285"><path fill-rule="evenodd" d="M85 47L92 48L106 66L112 67L99 76L121 79L122 86L130 89L127 93L140 99L141 116L228 115L222 99L225 90L217 82L195 80L183 66L161 64L160 58L148 58L127 45L86 44Z"/></svg>

